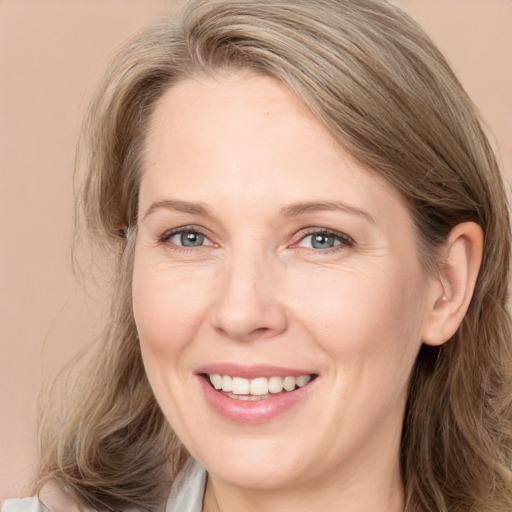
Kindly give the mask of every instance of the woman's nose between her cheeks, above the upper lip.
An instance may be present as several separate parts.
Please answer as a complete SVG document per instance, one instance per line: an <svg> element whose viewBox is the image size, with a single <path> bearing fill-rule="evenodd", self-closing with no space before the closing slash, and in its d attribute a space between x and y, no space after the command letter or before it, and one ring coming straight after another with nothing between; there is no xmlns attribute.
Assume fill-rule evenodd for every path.
<svg viewBox="0 0 512 512"><path fill-rule="evenodd" d="M223 269L212 325L235 341L271 338L287 329L273 265L255 255L232 258Z"/></svg>

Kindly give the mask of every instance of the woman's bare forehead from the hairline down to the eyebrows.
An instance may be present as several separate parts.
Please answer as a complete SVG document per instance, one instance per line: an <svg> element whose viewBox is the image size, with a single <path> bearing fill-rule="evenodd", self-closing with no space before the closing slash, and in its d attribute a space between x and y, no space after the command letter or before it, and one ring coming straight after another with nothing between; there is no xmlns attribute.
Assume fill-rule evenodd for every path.
<svg viewBox="0 0 512 512"><path fill-rule="evenodd" d="M342 200L385 214L398 193L342 150L278 80L252 73L197 77L161 98L151 119L141 207L179 200L240 212L296 201ZM382 210L382 211L380 211Z"/></svg>

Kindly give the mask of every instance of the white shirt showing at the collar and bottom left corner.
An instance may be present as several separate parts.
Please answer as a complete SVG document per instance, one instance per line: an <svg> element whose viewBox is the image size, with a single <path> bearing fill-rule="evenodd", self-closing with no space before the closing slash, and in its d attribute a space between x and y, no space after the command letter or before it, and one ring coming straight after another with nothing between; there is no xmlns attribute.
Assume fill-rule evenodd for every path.
<svg viewBox="0 0 512 512"><path fill-rule="evenodd" d="M206 489L206 470L192 457L174 480L165 512L201 512ZM0 512L44 512L37 496L4 501Z"/></svg>

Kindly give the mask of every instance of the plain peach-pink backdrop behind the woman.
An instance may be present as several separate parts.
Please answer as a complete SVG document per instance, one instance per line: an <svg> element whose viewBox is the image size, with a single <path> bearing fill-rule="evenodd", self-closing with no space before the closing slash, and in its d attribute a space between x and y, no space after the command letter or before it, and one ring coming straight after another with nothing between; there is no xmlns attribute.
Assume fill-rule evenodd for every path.
<svg viewBox="0 0 512 512"><path fill-rule="evenodd" d="M30 492L41 380L101 325L69 263L80 121L115 49L182 0L0 1L0 499ZM445 52L512 180L512 1L396 0Z"/></svg>

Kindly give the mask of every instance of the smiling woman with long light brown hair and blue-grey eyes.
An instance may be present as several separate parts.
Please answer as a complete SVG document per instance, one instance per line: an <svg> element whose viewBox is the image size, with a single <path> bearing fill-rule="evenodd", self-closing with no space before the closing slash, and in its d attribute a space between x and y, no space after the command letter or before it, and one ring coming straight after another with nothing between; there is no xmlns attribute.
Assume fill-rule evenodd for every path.
<svg viewBox="0 0 512 512"><path fill-rule="evenodd" d="M503 184L407 16L192 2L121 52L79 155L114 292L43 410L50 510L511 509Z"/></svg>

